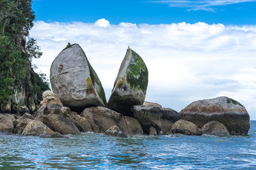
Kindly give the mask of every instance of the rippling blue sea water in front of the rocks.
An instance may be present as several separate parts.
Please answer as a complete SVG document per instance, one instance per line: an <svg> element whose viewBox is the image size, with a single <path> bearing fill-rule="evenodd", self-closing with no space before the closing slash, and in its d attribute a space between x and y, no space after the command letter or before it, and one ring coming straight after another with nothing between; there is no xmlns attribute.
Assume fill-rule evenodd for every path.
<svg viewBox="0 0 256 170"><path fill-rule="evenodd" d="M0 134L0 169L256 169L256 121L248 136L68 138Z"/></svg>

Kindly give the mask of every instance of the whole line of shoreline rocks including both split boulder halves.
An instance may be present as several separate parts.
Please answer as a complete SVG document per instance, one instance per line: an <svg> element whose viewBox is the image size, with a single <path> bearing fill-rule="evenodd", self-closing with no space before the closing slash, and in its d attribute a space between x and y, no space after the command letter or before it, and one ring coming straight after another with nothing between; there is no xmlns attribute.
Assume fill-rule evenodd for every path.
<svg viewBox="0 0 256 170"><path fill-rule="evenodd" d="M179 113L144 101L148 70L140 55L127 49L108 103L99 77L81 46L64 48L51 66L52 91L41 107L17 116L0 114L0 132L61 138L81 132L127 138L134 135L246 135L250 116L228 97L195 101Z"/></svg>

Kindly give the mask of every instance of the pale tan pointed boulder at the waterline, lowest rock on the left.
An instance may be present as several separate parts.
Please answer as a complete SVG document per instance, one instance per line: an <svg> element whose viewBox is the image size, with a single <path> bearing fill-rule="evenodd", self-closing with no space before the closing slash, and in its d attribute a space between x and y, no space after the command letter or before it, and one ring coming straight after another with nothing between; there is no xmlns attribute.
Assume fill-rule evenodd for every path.
<svg viewBox="0 0 256 170"><path fill-rule="evenodd" d="M54 132L39 120L31 120L22 132L24 136L40 136L43 138L61 138L60 133Z"/></svg>

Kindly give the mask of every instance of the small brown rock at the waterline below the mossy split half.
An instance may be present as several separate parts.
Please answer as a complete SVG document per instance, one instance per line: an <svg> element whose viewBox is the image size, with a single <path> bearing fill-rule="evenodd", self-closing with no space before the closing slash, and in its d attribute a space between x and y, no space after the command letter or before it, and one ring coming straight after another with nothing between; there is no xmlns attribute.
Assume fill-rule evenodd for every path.
<svg viewBox="0 0 256 170"><path fill-rule="evenodd" d="M127 134L129 135L142 135L143 129L140 122L132 117L124 117L127 125Z"/></svg>

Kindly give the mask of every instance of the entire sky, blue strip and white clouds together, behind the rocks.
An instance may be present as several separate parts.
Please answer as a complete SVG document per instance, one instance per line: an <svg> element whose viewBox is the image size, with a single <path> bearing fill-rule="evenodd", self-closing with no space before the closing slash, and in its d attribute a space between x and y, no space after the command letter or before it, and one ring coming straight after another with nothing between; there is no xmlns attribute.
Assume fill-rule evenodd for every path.
<svg viewBox="0 0 256 170"><path fill-rule="evenodd" d="M46 73L67 43L79 43L106 98L127 46L148 67L146 101L180 111L200 99L227 96L256 120L256 0L34 0L30 36Z"/></svg>

